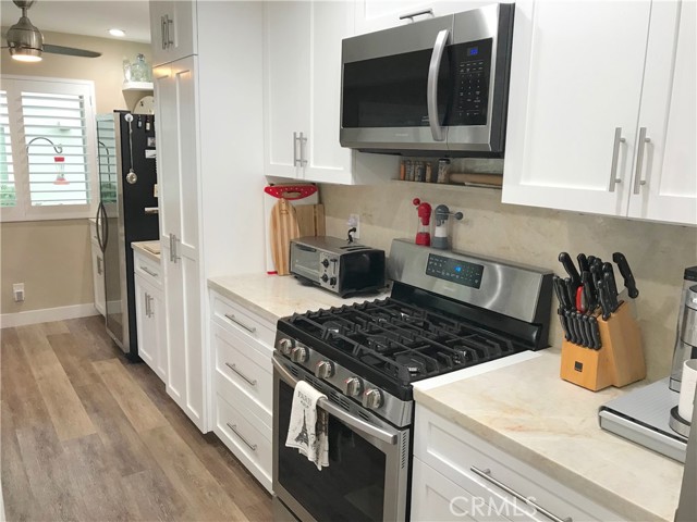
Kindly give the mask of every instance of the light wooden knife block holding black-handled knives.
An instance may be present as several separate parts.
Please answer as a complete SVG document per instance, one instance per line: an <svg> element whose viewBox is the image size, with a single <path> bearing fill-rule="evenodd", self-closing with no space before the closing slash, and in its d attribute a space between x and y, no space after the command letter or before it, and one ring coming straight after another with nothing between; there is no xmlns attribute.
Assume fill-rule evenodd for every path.
<svg viewBox="0 0 697 522"><path fill-rule="evenodd" d="M597 319L602 347L594 350L564 339L560 376L592 391L646 377L641 332L627 303L620 304L607 321L601 315Z"/></svg>

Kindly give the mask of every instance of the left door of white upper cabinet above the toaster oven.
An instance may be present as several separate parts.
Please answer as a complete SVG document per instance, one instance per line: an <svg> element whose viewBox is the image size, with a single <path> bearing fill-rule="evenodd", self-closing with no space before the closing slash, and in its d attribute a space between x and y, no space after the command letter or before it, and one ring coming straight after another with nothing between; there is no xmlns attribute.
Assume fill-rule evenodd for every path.
<svg viewBox="0 0 697 522"><path fill-rule="evenodd" d="M299 142L307 134L311 2L267 2L264 7L265 174L297 177Z"/></svg>

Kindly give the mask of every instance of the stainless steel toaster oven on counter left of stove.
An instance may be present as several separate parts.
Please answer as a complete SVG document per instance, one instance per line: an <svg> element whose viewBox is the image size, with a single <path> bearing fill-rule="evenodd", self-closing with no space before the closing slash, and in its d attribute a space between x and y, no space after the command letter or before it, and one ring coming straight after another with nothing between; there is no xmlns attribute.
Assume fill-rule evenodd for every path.
<svg viewBox="0 0 697 522"><path fill-rule="evenodd" d="M291 273L340 296L384 287L384 250L331 236L291 240Z"/></svg>

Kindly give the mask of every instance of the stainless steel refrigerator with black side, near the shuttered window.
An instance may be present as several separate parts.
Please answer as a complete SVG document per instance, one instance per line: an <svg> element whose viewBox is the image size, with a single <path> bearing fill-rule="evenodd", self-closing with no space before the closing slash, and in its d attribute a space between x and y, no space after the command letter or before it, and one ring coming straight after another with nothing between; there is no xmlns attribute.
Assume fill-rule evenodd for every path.
<svg viewBox="0 0 697 522"><path fill-rule="evenodd" d="M97 116L97 240L105 261L107 333L139 360L133 241L159 240L155 116L113 111Z"/></svg>

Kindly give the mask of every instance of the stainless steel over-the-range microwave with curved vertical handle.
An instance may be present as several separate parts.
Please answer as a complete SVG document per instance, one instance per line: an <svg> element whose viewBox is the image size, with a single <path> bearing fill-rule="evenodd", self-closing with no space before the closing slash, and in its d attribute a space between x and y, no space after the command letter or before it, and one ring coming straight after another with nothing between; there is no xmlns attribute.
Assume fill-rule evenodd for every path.
<svg viewBox="0 0 697 522"><path fill-rule="evenodd" d="M487 5L344 39L341 145L503 157L514 10Z"/></svg>

